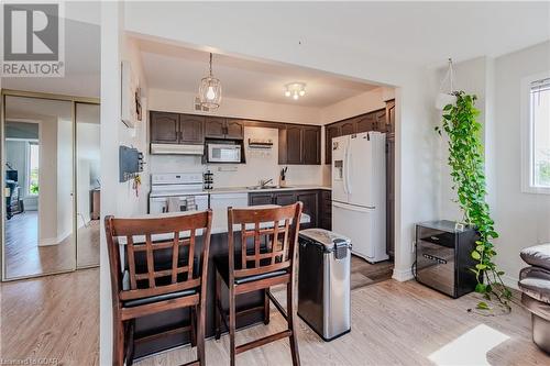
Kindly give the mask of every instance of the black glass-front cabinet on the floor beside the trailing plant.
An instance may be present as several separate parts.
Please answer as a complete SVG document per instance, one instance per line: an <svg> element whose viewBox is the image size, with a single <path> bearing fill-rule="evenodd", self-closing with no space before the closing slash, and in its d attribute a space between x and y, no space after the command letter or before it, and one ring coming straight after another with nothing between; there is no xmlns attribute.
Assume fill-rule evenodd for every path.
<svg viewBox="0 0 550 366"><path fill-rule="evenodd" d="M455 222L440 220L416 225L416 279L452 298L475 290L477 280L470 269L477 264L471 256L477 232Z"/></svg>

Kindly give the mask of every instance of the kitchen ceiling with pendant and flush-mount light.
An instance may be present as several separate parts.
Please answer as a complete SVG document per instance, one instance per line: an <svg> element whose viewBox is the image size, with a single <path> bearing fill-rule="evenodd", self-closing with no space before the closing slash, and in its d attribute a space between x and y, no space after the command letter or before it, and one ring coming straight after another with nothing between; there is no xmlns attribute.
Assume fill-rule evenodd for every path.
<svg viewBox="0 0 550 366"><path fill-rule="evenodd" d="M208 74L209 54L173 44L138 40L150 88L194 92ZM213 56L213 75L221 80L222 96L326 107L372 90L377 86L344 79L322 71L284 64L270 64L228 55ZM285 85L306 82L306 96L299 100L285 97Z"/></svg>

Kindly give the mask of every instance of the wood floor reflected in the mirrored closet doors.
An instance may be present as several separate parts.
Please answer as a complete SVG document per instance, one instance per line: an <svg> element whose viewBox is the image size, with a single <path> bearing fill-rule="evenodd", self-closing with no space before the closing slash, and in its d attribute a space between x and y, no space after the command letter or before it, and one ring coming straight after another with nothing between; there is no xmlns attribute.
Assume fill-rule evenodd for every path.
<svg viewBox="0 0 550 366"><path fill-rule="evenodd" d="M37 211L6 221L6 277L15 278L75 268L73 235L57 245L37 245ZM78 229L78 267L99 264L99 220Z"/></svg>

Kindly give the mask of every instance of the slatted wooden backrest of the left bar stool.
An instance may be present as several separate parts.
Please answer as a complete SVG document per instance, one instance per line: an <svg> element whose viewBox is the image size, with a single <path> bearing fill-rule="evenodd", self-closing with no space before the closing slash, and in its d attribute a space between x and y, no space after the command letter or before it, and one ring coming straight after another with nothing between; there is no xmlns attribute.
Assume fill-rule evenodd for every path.
<svg viewBox="0 0 550 366"><path fill-rule="evenodd" d="M206 291L212 211L163 219L106 218L111 281L117 301L200 287ZM195 268L197 230L201 231L201 268ZM189 233L188 237L184 237ZM173 235L169 240L156 241ZM119 237L125 237L129 288L123 281ZM140 240L138 240L140 239ZM144 239L144 240L143 240ZM136 243L138 242L138 243ZM143 243L144 242L144 243ZM206 295L206 292L205 292ZM114 301L114 299L113 299Z"/></svg>

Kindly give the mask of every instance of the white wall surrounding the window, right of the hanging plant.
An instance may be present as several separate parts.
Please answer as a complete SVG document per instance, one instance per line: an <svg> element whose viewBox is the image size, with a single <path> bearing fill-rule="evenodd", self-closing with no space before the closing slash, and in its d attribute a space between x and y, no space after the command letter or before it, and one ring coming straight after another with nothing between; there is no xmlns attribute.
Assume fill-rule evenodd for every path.
<svg viewBox="0 0 550 366"><path fill-rule="evenodd" d="M550 196L521 192L520 80L550 70L550 42L495 59L497 264L516 282L522 247L550 241Z"/></svg>

